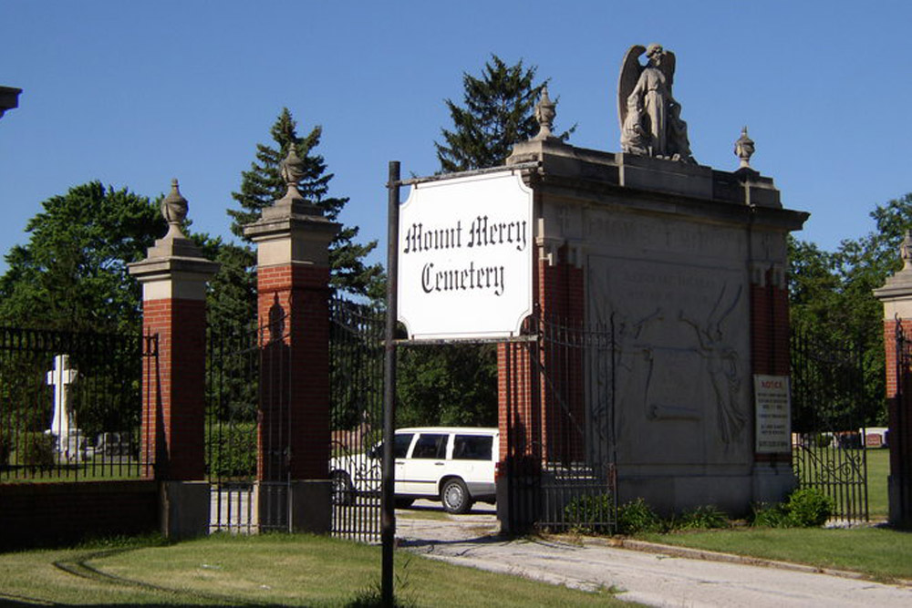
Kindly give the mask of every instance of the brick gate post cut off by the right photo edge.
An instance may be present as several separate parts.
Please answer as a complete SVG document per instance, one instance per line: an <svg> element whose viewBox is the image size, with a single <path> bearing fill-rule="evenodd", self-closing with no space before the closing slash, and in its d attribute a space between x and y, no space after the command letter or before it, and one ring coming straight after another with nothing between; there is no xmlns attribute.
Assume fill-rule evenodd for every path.
<svg viewBox="0 0 912 608"><path fill-rule="evenodd" d="M886 279L875 297L884 304L886 401L889 409L890 476L887 478L890 523L912 528L912 369L900 352L897 330L912 335L912 232L900 248L903 268ZM864 445L864 444L863 444Z"/></svg>

